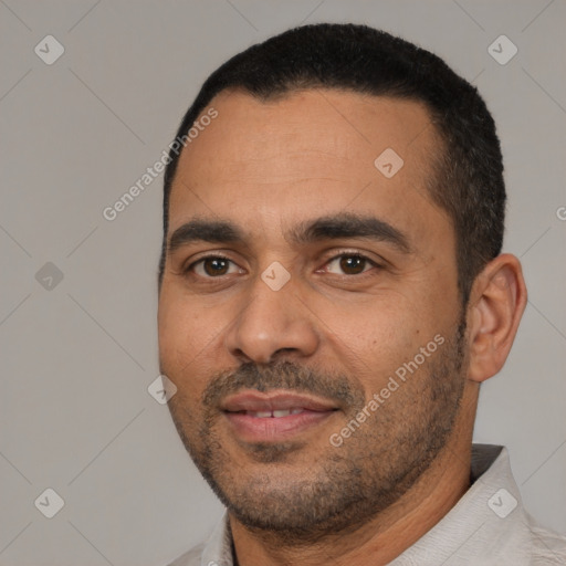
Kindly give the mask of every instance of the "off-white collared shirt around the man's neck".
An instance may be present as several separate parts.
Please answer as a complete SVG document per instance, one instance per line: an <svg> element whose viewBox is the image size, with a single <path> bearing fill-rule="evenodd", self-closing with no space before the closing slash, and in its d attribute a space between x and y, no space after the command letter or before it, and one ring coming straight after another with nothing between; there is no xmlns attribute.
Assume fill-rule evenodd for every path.
<svg viewBox="0 0 566 566"><path fill-rule="evenodd" d="M566 565L566 537L537 526L524 510L504 447L474 444L471 478L449 513L390 566ZM228 514L208 543L169 566L233 566Z"/></svg>

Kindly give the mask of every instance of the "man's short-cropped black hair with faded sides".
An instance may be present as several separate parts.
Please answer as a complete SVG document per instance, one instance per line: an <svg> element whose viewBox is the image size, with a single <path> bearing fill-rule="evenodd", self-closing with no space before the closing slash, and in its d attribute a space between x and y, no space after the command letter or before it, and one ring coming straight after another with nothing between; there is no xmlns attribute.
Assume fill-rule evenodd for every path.
<svg viewBox="0 0 566 566"><path fill-rule="evenodd" d="M234 55L202 85L177 138L222 91L268 102L308 88L336 88L424 104L441 150L427 181L449 216L457 240L458 285L465 305L475 276L503 244L505 185L495 123L478 90L439 56L387 32L359 24L291 29ZM186 138L185 138L186 139ZM163 280L168 207L180 153L170 151L164 179Z"/></svg>

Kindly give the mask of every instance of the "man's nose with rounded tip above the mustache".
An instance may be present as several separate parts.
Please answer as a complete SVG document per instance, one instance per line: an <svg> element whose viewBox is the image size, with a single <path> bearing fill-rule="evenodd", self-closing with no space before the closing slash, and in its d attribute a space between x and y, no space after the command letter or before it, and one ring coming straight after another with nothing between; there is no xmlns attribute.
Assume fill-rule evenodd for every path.
<svg viewBox="0 0 566 566"><path fill-rule="evenodd" d="M293 281L274 291L261 279L226 334L226 347L240 361L268 364L275 358L312 356L319 344L316 317Z"/></svg>

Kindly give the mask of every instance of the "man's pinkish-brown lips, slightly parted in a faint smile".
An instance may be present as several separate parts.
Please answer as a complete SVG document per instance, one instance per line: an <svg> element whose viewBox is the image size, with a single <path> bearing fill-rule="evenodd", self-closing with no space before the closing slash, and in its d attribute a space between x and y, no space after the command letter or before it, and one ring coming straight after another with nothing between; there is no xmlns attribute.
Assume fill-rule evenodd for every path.
<svg viewBox="0 0 566 566"><path fill-rule="evenodd" d="M279 442L319 427L339 408L331 400L290 391L244 391L221 403L231 432L245 442Z"/></svg>

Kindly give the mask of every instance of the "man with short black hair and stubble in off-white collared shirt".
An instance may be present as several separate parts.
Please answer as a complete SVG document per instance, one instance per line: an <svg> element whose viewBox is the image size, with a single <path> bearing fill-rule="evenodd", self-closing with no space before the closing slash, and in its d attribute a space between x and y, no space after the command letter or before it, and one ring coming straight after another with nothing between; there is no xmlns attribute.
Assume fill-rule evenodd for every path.
<svg viewBox="0 0 566 566"><path fill-rule="evenodd" d="M505 449L472 448L526 303L475 88L307 25L217 70L169 157L160 369L227 506L174 565L566 563Z"/></svg>

